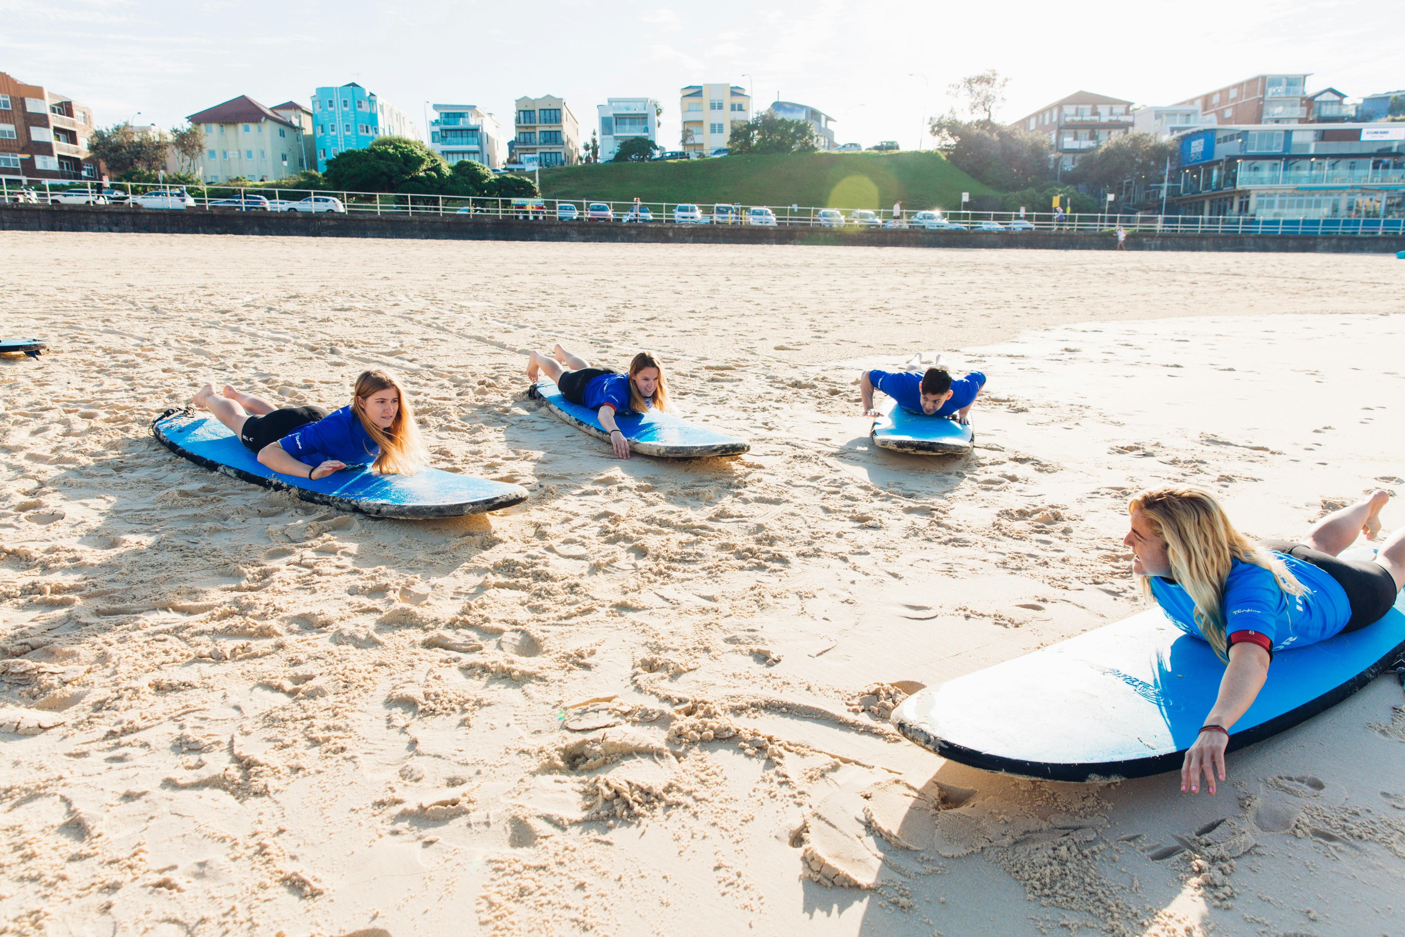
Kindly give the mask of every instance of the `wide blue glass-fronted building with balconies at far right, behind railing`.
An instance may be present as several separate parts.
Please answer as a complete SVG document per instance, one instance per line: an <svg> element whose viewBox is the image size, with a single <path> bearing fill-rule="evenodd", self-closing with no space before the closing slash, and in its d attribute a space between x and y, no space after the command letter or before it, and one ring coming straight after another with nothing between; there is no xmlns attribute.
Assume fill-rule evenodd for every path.
<svg viewBox="0 0 1405 937"><path fill-rule="evenodd" d="M1186 215L1405 218L1405 124L1248 124L1183 133Z"/></svg>

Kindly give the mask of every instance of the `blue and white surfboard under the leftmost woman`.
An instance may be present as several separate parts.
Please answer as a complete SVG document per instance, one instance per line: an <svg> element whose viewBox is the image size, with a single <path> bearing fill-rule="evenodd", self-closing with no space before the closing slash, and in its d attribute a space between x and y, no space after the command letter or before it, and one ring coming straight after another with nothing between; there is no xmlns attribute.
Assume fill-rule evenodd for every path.
<svg viewBox="0 0 1405 937"><path fill-rule="evenodd" d="M527 492L517 485L440 469L422 469L414 475L377 475L367 465L351 465L318 480L281 475L254 458L249 447L215 417L187 416L183 410L167 410L156 417L152 434L171 452L214 472L291 492L315 504L374 517L462 517L527 500Z"/></svg>

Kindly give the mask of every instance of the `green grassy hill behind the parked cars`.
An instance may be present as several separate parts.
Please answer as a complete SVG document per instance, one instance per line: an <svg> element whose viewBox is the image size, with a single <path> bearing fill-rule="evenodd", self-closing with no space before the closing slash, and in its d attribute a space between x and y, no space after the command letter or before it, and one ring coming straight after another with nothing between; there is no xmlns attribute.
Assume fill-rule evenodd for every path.
<svg viewBox="0 0 1405 937"><path fill-rule="evenodd" d="M828 208L961 208L996 194L939 153L787 153L542 170L547 198Z"/></svg>

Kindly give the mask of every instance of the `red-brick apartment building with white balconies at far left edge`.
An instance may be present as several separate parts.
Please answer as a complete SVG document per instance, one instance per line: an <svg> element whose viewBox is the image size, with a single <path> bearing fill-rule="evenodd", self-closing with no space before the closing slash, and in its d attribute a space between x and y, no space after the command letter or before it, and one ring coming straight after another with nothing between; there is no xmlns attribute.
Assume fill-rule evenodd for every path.
<svg viewBox="0 0 1405 937"><path fill-rule="evenodd" d="M91 133L91 108L0 72L0 174L97 178L97 160L87 149Z"/></svg>

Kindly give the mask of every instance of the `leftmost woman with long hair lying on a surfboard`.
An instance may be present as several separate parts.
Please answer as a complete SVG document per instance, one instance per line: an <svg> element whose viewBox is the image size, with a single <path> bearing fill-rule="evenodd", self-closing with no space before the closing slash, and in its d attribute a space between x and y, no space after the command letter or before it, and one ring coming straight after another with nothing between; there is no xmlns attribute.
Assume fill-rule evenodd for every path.
<svg viewBox="0 0 1405 937"><path fill-rule="evenodd" d="M351 403L329 413L319 406L278 407L225 386L207 384L191 406L209 410L274 472L319 479L347 465L384 475L414 475L429 461L414 409L386 371L362 371Z"/></svg>

